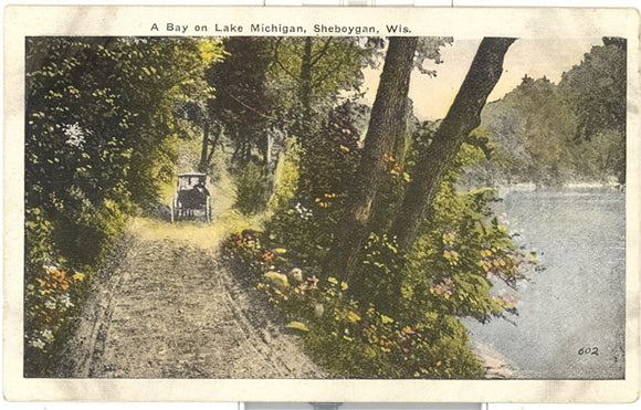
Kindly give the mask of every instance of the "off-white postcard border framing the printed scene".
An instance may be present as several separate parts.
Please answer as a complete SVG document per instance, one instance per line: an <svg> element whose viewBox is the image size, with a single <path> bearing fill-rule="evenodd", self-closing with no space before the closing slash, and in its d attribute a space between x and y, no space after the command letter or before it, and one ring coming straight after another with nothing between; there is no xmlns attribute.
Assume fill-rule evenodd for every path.
<svg viewBox="0 0 641 410"><path fill-rule="evenodd" d="M627 348L624 380L168 380L22 377L23 101L28 35L203 35L153 24L300 21L382 27L454 38L628 38ZM619 402L639 395L639 13L633 9L340 9L229 7L8 7L4 12L3 389L9 400L51 401L490 401ZM166 25L165 25L166 28ZM312 29L308 29L312 30ZM223 35L208 29L207 35ZM229 33L227 33L229 34ZM250 33L240 33L250 35ZM314 35L307 33L306 35ZM274 35L274 33L251 33ZM381 32L379 35L387 35Z"/></svg>

